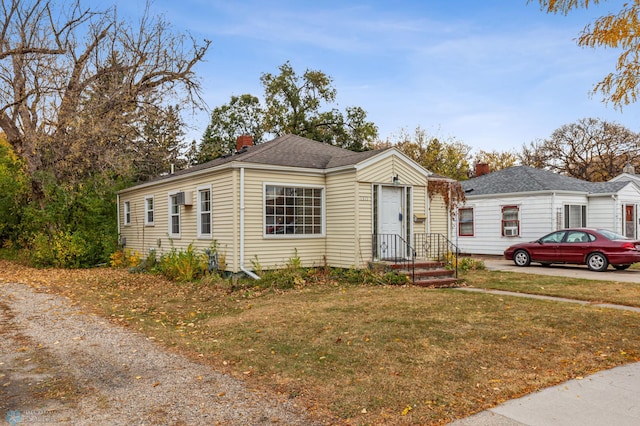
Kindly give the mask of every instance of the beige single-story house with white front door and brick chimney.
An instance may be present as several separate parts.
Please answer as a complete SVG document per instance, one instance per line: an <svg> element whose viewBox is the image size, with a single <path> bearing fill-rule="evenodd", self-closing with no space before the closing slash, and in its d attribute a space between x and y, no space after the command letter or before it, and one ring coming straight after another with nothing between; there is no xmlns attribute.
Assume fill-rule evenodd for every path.
<svg viewBox="0 0 640 426"><path fill-rule="evenodd" d="M402 258L416 236L449 236L432 175L396 148L352 152L295 135L254 145L118 193L121 244L145 255L215 241L229 272L362 268Z"/></svg>

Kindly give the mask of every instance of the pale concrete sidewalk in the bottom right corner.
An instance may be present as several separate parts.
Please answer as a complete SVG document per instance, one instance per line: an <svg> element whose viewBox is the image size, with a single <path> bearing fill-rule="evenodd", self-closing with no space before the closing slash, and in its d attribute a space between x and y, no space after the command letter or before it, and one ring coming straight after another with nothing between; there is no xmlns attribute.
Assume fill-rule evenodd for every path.
<svg viewBox="0 0 640 426"><path fill-rule="evenodd" d="M640 363L507 401L452 426L640 425Z"/></svg>

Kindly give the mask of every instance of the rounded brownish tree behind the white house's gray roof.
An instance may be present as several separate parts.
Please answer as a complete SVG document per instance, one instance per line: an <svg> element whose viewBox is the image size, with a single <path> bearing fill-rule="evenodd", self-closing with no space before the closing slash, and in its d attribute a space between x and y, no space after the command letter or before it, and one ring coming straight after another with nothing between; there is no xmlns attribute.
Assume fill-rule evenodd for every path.
<svg viewBox="0 0 640 426"><path fill-rule="evenodd" d="M524 165L590 182L607 181L627 163L640 166L640 135L616 123L584 118L522 147Z"/></svg>

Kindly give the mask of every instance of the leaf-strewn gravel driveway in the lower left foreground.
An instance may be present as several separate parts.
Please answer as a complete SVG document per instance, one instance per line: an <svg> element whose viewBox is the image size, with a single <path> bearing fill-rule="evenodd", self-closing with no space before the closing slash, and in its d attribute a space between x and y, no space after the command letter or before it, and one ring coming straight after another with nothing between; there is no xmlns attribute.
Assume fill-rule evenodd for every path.
<svg viewBox="0 0 640 426"><path fill-rule="evenodd" d="M0 284L0 422L309 425L276 395L163 350L69 300Z"/></svg>

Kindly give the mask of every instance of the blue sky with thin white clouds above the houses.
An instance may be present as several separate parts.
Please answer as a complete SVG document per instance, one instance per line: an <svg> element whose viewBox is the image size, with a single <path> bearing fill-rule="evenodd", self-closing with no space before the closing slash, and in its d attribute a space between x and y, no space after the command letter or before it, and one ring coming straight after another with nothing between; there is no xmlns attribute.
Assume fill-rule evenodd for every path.
<svg viewBox="0 0 640 426"><path fill-rule="evenodd" d="M155 0L151 9L212 41L197 67L210 108L261 96L260 75L290 61L299 74L332 77L338 108L362 107L383 140L420 126L477 152L519 150L585 117L640 130L640 105L620 112L589 96L616 52L575 43L622 3L569 16L526 0ZM118 11L135 18L143 4L122 0ZM209 114L185 120L188 140L199 141Z"/></svg>

